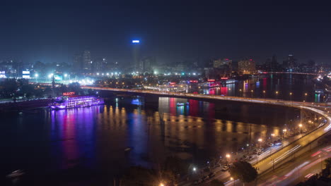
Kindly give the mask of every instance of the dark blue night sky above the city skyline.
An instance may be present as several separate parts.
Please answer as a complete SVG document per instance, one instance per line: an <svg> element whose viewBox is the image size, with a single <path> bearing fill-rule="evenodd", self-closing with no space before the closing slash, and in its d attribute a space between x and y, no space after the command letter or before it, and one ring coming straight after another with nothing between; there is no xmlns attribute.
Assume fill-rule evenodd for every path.
<svg viewBox="0 0 331 186"><path fill-rule="evenodd" d="M166 2L166 1L164 1ZM301 1L265 4L75 4L1 6L0 60L72 62L84 49L92 58L132 61L130 41L158 62L245 56L258 63L294 54L331 63L331 11Z"/></svg>

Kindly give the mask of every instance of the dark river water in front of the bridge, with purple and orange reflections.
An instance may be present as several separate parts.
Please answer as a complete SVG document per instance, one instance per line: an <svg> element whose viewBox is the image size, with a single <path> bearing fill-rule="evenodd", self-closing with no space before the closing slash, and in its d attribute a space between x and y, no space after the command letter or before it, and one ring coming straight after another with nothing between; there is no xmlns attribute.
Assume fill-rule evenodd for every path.
<svg viewBox="0 0 331 186"><path fill-rule="evenodd" d="M273 87L268 80L255 89ZM303 85L311 84L303 79ZM189 106L176 106L187 101ZM129 166L156 167L170 155L202 164L250 138L280 135L298 116L300 111L281 107L166 97L154 106L146 106L144 97L109 98L104 106L1 114L0 180L24 169L33 185L108 185Z"/></svg>

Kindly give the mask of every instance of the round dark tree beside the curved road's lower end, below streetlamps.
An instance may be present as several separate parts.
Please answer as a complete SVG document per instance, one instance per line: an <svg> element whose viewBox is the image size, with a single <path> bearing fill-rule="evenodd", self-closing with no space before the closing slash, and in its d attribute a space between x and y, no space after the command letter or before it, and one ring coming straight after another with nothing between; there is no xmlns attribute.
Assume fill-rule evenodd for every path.
<svg viewBox="0 0 331 186"><path fill-rule="evenodd" d="M242 182L252 182L257 178L257 171L246 161L234 162L229 171L233 178Z"/></svg>

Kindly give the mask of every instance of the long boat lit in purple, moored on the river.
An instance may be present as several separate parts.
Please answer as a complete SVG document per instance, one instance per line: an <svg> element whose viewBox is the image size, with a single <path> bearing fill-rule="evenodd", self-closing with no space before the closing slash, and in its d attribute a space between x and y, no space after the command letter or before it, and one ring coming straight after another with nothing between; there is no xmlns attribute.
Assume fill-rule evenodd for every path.
<svg viewBox="0 0 331 186"><path fill-rule="evenodd" d="M105 104L102 98L96 96L57 97L50 105L51 109L70 109Z"/></svg>

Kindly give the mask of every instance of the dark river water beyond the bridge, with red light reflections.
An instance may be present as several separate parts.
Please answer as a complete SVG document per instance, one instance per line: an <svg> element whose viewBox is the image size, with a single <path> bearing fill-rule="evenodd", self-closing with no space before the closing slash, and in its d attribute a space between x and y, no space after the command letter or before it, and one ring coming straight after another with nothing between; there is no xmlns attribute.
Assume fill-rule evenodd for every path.
<svg viewBox="0 0 331 186"><path fill-rule="evenodd" d="M200 90L192 87L190 92L197 92L199 94L223 94L236 97L266 97L294 101L323 102L324 95L315 94L315 89L323 89L323 87L316 85L315 82L313 82L313 77L313 75L259 75L249 80L239 80L236 84L223 87ZM265 91L265 93L263 91ZM290 92L292 92L292 95L290 95Z"/></svg>

